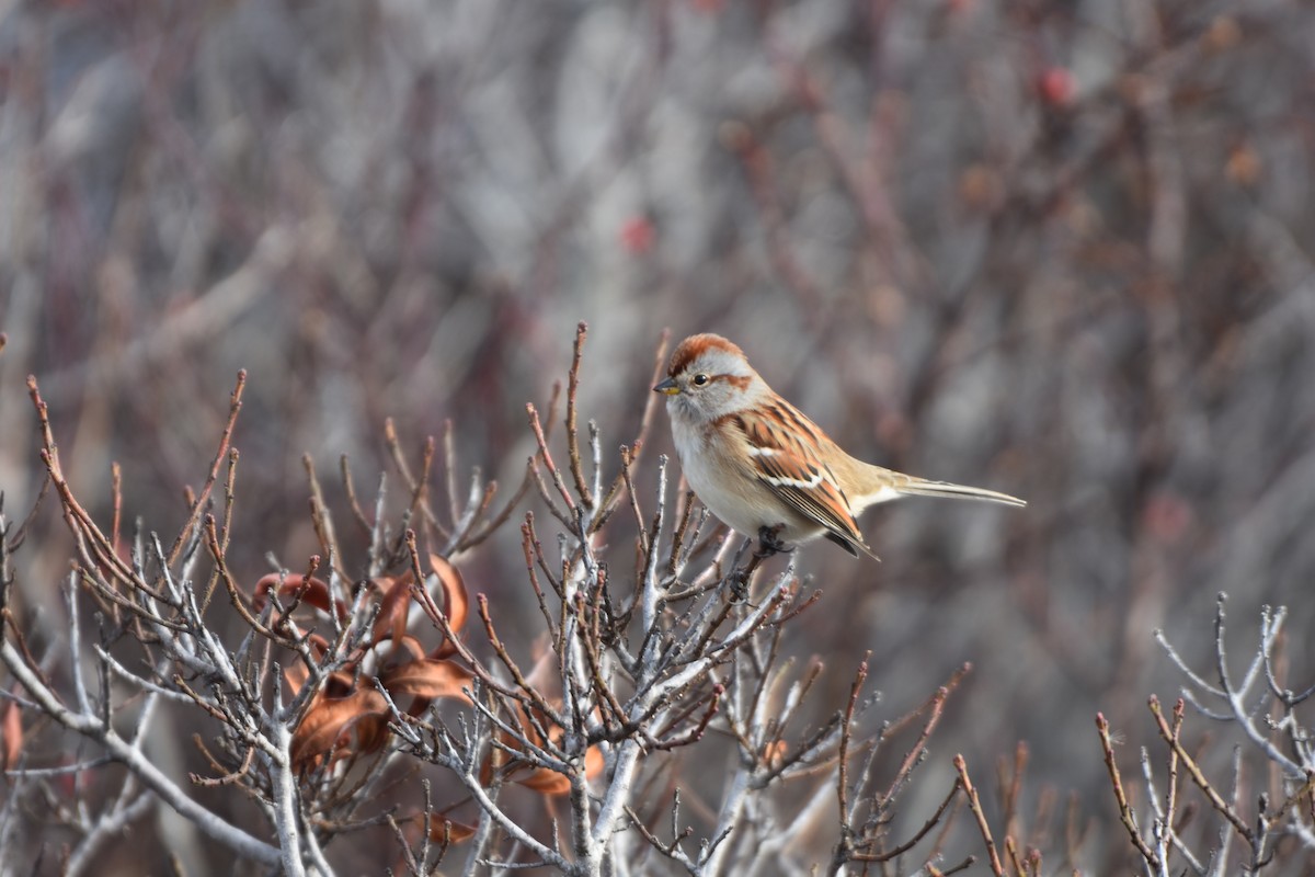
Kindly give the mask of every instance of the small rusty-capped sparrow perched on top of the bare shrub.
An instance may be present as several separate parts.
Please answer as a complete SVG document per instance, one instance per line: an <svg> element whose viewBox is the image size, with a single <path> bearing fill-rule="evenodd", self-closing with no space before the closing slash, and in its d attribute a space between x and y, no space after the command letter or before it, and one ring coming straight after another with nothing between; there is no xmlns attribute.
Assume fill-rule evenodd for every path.
<svg viewBox="0 0 1315 877"><path fill-rule="evenodd" d="M826 536L876 557L855 518L901 496L1027 505L981 488L902 475L856 460L777 396L744 352L721 335L692 335L671 356L671 434L685 479L731 529L757 534L768 554Z"/></svg>

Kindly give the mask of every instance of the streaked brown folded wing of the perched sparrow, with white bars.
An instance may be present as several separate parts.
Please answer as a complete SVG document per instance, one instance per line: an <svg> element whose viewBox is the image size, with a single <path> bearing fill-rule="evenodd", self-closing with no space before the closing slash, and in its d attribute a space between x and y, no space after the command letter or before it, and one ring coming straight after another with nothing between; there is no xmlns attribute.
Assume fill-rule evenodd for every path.
<svg viewBox="0 0 1315 877"><path fill-rule="evenodd" d="M835 473L813 450L828 439L807 417L778 401L761 413L740 412L732 421L744 430L757 476L776 496L842 539L868 550Z"/></svg>

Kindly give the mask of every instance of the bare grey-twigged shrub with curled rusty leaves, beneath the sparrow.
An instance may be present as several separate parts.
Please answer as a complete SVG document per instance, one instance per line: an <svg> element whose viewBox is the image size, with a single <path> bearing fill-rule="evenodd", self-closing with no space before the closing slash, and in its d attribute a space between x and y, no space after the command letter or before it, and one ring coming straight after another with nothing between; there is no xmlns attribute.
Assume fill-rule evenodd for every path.
<svg viewBox="0 0 1315 877"><path fill-rule="evenodd" d="M42 657L5 610L11 841L43 802L37 809L60 814L67 830L46 855L84 873L107 839L164 806L230 860L289 874L334 873L334 851L348 845L341 838L380 832L392 841L346 861L416 874L451 857L464 873L851 873L932 868L967 801L995 856L963 759L922 826L896 831L963 673L877 724L882 707L860 660L843 703L815 722L805 703L836 671L801 667L784 642L819 594L793 560L767 563L714 526L665 459L642 455L655 396L619 455L602 451L594 422L580 434L584 341L581 325L562 463L548 435L560 391L547 426L527 406L526 484L556 530L544 539L534 514L521 523L522 598L540 622L529 638L509 638L498 606L485 594L472 601L456 565L513 519L523 490L494 509L496 485L476 469L458 493L450 443L443 490L435 442L413 468L389 430L402 501L385 477L368 510L343 460L350 526L368 536L359 559L341 547L308 467L321 554L305 572L245 586L230 559L251 548L229 538L242 506L231 433L245 375L167 546L142 525L125 535L117 511L103 527L79 504L30 381L76 554L63 584L71 626L42 643ZM635 489L643 465L656 469L654 496ZM8 596L24 529L4 530ZM189 718L160 721L170 709ZM206 769L179 776L155 764L154 738L180 724L200 728L192 742ZM34 746L45 727L78 756ZM70 776L85 784L71 794L59 784ZM103 777L113 790L101 802L87 789Z"/></svg>

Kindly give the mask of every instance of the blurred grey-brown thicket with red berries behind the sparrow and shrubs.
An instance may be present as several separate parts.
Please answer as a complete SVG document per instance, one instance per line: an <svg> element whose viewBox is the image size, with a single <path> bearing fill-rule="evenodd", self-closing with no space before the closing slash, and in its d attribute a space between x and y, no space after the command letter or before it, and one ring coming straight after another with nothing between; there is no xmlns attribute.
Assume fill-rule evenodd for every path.
<svg viewBox="0 0 1315 877"><path fill-rule="evenodd" d="M302 454L341 497L385 418L452 419L510 488L579 321L605 448L664 329L718 331L856 455L1030 501L880 508L881 564L809 547L792 647L839 668L823 713L867 650L892 717L972 661L927 770L1026 742L1027 806L1072 795L1076 864L1114 868L1093 718L1135 770L1181 678L1152 631L1202 661L1220 590L1239 660L1262 604L1315 625L1312 46L1295 0L0 4L5 511L42 475L28 373L84 502L118 462L172 534L246 368L254 581L316 550ZM509 607L517 542L467 567Z"/></svg>

